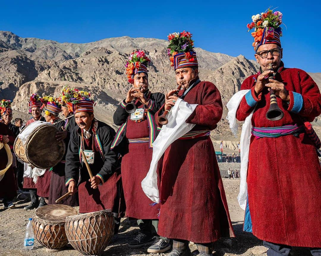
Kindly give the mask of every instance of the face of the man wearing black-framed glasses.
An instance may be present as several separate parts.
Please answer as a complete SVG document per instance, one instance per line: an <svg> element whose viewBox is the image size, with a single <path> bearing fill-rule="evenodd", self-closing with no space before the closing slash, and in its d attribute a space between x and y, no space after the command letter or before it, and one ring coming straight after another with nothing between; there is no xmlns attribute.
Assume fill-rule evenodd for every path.
<svg viewBox="0 0 321 256"><path fill-rule="evenodd" d="M270 51L274 48L280 47L277 44L262 44L256 52L261 51ZM277 55L273 55L271 52L268 52L266 58L262 58L259 54L254 54L257 63L259 63L262 71L269 70L269 64L272 63L273 70L277 70L280 67L283 49L281 49L280 53Z"/></svg>

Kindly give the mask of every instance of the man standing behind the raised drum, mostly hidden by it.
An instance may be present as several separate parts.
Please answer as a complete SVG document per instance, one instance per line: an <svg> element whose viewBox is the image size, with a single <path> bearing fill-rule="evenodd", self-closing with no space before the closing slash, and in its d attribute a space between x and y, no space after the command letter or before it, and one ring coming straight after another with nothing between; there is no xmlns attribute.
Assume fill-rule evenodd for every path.
<svg viewBox="0 0 321 256"><path fill-rule="evenodd" d="M32 118L30 118L27 123L26 126L28 126L29 124L36 122L36 121L46 121L45 118L43 116L41 116L41 112L42 112L42 103L40 101L40 96L38 94L31 94L29 97L29 113L31 113ZM26 165L26 164L25 164ZM34 208L37 208L39 206L39 198L37 196L37 186L36 184L33 182L32 178L29 177L24 177L23 178L23 188L24 189L29 189L30 192L30 197L31 197L31 202L29 205L27 205L26 207L24 207L23 209L25 210L31 210ZM44 204L44 198L40 198L41 199L41 204Z"/></svg>

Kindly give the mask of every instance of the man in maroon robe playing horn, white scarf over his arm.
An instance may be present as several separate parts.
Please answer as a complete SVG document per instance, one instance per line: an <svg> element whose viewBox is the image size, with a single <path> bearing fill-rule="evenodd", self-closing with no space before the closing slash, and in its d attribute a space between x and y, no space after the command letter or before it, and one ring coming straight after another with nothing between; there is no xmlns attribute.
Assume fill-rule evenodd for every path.
<svg viewBox="0 0 321 256"><path fill-rule="evenodd" d="M171 46L179 41L175 52ZM200 81L196 53L192 51L191 34L169 35L169 54L181 90L165 95L165 105L155 114L157 120L164 109L174 106L178 97L198 104L186 122L195 124L190 132L174 141L165 151L161 185L158 233L173 239L169 256L188 254L188 241L197 245L198 255L212 255L213 242L222 236L234 236L229 210L216 161L210 131L222 116L220 92L211 82ZM191 43L192 42L192 43ZM174 47L173 47L174 48ZM178 96L174 95L178 92ZM158 124L161 126L161 124ZM197 252L196 252L197 253Z"/></svg>

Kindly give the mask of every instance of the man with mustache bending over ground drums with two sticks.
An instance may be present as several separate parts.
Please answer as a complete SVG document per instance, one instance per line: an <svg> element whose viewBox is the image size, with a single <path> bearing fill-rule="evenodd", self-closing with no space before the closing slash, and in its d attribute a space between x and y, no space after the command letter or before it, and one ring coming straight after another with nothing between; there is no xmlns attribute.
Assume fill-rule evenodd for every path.
<svg viewBox="0 0 321 256"><path fill-rule="evenodd" d="M110 149L115 131L95 119L94 101L90 100L90 93L73 89L72 95L70 100L73 102L75 121L79 127L76 126L70 135L65 185L73 194L78 190L80 213L111 209L118 216L121 177L120 170L117 169L117 154ZM81 150L86 154L92 178Z"/></svg>

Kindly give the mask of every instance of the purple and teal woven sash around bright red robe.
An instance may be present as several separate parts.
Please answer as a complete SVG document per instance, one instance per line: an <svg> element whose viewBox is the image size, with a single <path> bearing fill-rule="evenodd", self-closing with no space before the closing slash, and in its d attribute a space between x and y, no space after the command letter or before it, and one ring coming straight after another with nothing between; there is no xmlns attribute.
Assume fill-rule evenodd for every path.
<svg viewBox="0 0 321 256"><path fill-rule="evenodd" d="M304 125L283 125L280 127L252 127L252 135L258 138L277 138L289 134L298 135L304 132Z"/></svg>

